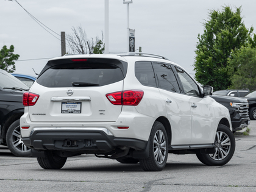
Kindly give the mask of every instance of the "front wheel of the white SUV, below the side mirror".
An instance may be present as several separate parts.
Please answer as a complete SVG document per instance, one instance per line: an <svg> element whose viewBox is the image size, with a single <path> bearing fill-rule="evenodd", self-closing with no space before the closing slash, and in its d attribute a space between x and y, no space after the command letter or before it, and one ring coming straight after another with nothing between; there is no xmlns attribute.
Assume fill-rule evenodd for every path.
<svg viewBox="0 0 256 192"><path fill-rule="evenodd" d="M225 165L230 161L235 152L235 137L229 127L219 124L215 136L215 152L213 154L201 154L197 152L197 158L205 165Z"/></svg>

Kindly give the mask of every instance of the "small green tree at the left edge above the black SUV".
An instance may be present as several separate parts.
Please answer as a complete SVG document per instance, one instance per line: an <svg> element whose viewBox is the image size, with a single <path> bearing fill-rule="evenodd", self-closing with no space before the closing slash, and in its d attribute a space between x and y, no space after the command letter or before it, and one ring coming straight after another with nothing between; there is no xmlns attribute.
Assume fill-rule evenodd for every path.
<svg viewBox="0 0 256 192"><path fill-rule="evenodd" d="M13 45L10 46L10 49L7 49L7 46L4 45L0 51L0 68L8 73L13 73L16 70L14 61L20 57L20 55L13 54L13 52Z"/></svg>

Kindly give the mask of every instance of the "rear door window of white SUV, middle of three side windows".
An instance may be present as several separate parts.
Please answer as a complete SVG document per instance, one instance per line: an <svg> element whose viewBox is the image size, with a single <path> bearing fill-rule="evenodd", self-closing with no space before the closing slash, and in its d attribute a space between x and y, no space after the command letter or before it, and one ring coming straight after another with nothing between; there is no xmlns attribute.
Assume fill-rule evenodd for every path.
<svg viewBox="0 0 256 192"><path fill-rule="evenodd" d="M160 88L180 93L179 85L176 77L174 76L171 65L166 63L154 63L153 67Z"/></svg>

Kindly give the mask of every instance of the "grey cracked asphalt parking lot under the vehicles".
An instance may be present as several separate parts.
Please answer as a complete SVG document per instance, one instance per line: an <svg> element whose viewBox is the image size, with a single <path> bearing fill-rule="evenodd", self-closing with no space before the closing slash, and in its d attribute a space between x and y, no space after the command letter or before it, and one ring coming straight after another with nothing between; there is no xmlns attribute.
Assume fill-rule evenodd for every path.
<svg viewBox="0 0 256 192"><path fill-rule="evenodd" d="M1 191L256 191L256 121L249 136L236 135L227 165L205 166L196 155L169 154L166 168L145 172L94 155L70 157L60 170L44 170L36 158L15 157L0 146Z"/></svg>

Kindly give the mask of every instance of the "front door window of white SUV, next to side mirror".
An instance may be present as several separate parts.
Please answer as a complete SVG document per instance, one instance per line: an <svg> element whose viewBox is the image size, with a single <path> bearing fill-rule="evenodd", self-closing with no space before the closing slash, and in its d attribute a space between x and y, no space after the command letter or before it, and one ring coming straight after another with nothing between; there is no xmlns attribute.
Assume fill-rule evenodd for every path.
<svg viewBox="0 0 256 192"><path fill-rule="evenodd" d="M177 67L175 68L182 83L184 93L190 96L199 96L200 92L194 80L182 69Z"/></svg>

